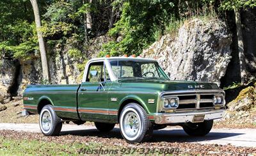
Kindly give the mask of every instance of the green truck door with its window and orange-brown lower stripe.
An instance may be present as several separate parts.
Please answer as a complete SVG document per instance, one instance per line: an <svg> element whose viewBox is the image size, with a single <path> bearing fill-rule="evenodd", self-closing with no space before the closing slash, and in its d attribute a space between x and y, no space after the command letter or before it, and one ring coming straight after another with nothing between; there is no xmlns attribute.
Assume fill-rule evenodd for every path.
<svg viewBox="0 0 256 156"><path fill-rule="evenodd" d="M84 71L86 72L86 71ZM108 119L108 89L111 84L104 61L88 65L86 81L78 90L78 112L81 119L100 121Z"/></svg>

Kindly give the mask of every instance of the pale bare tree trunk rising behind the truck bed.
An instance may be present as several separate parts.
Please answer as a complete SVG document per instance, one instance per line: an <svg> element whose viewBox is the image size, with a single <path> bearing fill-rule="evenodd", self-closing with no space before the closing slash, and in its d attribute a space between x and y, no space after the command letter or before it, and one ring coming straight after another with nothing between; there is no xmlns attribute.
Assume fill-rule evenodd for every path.
<svg viewBox="0 0 256 156"><path fill-rule="evenodd" d="M40 28L42 27L42 25L41 25L38 4L36 0L30 0L30 2L32 4L33 12L35 15L36 31L37 31L39 50L40 50L41 61L42 61L43 77L45 80L51 81L48 62L47 62L47 56L46 56L45 42L44 42L42 31L40 31Z"/></svg>

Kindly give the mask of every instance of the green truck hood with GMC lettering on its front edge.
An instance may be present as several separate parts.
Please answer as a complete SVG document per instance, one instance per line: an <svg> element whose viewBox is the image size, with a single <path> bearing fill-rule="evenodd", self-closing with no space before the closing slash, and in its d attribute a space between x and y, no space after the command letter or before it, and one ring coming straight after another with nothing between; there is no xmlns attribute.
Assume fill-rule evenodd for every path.
<svg viewBox="0 0 256 156"><path fill-rule="evenodd" d="M160 91L220 89L217 84L211 82L167 81L157 79L122 79L118 80L118 82L124 88L148 88Z"/></svg>

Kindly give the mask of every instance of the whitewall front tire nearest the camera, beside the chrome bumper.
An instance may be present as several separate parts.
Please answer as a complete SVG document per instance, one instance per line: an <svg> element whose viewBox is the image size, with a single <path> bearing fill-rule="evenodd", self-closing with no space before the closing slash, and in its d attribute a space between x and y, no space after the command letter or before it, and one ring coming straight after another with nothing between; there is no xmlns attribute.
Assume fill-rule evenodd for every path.
<svg viewBox="0 0 256 156"><path fill-rule="evenodd" d="M128 121L129 125L127 124ZM152 137L153 124L148 120L145 109L136 103L125 105L120 114L119 123L121 134L127 143L141 143L148 141ZM139 128L137 130L136 127L138 126ZM133 132L134 137L131 137Z"/></svg>

